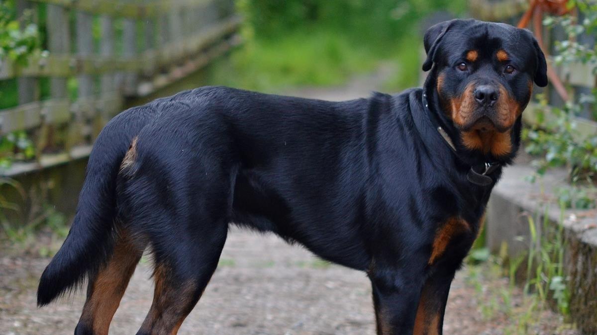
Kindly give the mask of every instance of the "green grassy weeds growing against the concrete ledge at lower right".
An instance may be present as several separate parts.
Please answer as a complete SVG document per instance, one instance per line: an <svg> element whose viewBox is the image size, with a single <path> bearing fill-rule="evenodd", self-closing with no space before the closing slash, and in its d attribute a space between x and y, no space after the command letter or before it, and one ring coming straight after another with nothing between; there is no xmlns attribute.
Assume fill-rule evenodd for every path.
<svg viewBox="0 0 597 335"><path fill-rule="evenodd" d="M564 273L564 207L561 209L561 222L558 225L549 221L547 207L543 213L527 216L528 249L515 259L508 257L505 242L497 255L491 255L487 247L478 247L467 258L467 283L476 288L482 314L487 319L493 318L497 312L506 314L515 326L512 328L513 333L525 334L529 327L540 322L537 317L549 305L555 306L564 316L570 314L570 290ZM538 218L542 218L542 221ZM519 241L525 239L518 238ZM481 272L487 273L485 277L508 277L509 286L493 289L490 299L487 299ZM517 278L524 278L522 303L512 302L511 299L513 292L518 290L515 286ZM484 297L481 299L481 296Z"/></svg>

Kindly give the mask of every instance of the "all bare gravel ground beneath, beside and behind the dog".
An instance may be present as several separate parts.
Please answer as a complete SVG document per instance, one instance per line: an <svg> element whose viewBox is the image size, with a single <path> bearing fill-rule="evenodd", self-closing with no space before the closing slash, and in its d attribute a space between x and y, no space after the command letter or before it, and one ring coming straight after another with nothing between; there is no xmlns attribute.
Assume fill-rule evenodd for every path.
<svg viewBox="0 0 597 335"><path fill-rule="evenodd" d="M345 100L365 97L392 69L362 77L344 88L303 90L293 95ZM72 334L84 294L39 309L35 290L48 258L15 253L0 241L0 334ZM4 242L5 243L5 242ZM41 242L40 242L41 243ZM3 255L4 254L4 255ZM35 254L34 254L35 255ZM122 299L110 334L134 334L151 304L150 265L141 262ZM454 280L444 333L460 335L511 333L512 313L491 306L492 292L507 287L501 277L471 280L460 271ZM510 305L522 306L515 290ZM491 304L488 302L492 302ZM497 303L499 305L499 303ZM490 307L488 307L490 306ZM510 315L510 317L508 316ZM577 334L562 327L561 317L543 312L528 334ZM510 327L510 328L509 328ZM204 296L179 334L343 334L375 333L371 287L364 273L315 258L299 246L273 235L233 228L220 266Z"/></svg>

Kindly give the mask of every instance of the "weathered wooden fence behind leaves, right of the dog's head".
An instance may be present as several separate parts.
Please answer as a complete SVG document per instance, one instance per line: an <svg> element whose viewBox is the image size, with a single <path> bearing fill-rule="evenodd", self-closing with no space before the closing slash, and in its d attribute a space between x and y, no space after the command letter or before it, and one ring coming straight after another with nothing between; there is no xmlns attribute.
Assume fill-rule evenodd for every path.
<svg viewBox="0 0 597 335"><path fill-rule="evenodd" d="M470 0L470 14L479 20L498 21L516 25L522 13L528 8L528 0ZM567 38L564 30L556 27L552 30L543 29L543 41L548 52L555 53L555 41ZM579 41L586 42L589 46L595 45L595 36L586 33L578 36ZM552 63L553 64L553 63ZM573 64L571 66L555 67L558 76L571 88L571 97L578 97L580 94L590 94L592 89L597 87L597 76L595 64ZM538 89L536 92L544 92L547 95L550 106L561 107L564 101L561 100L555 89L548 86L546 89ZM597 115L592 104L584 104L578 118L579 131L584 134L597 134ZM536 113L533 108L527 108L523 114L527 122L536 122Z"/></svg>

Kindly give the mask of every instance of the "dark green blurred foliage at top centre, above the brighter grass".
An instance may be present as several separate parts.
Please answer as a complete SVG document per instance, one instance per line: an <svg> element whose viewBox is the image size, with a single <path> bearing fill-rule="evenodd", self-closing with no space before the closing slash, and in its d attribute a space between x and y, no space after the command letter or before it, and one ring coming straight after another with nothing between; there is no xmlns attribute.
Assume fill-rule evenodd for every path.
<svg viewBox="0 0 597 335"><path fill-rule="evenodd" d="M395 41L421 17L437 10L462 11L466 2L407 0L239 0L247 28L259 38L279 38L309 26L350 35L365 44Z"/></svg>

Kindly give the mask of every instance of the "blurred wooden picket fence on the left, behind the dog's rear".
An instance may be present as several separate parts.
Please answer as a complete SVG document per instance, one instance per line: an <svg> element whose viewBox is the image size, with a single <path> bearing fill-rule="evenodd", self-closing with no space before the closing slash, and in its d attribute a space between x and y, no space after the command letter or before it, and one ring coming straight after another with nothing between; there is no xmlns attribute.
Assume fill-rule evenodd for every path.
<svg viewBox="0 0 597 335"><path fill-rule="evenodd" d="M0 110L0 137L26 131L35 149L0 176L88 156L125 98L152 94L238 43L232 0L16 2L17 15L30 11L40 24L49 52L26 66L0 60L0 80L16 78L19 96Z"/></svg>

